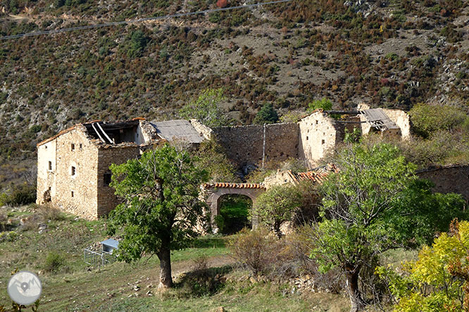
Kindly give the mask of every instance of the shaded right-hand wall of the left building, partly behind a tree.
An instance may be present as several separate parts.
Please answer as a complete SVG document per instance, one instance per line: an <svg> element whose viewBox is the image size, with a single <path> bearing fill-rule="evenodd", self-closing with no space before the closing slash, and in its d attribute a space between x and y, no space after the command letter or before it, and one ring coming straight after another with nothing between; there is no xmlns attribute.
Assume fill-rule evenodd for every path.
<svg viewBox="0 0 469 312"><path fill-rule="evenodd" d="M118 197L114 195L114 189L105 183L105 174L110 174L111 164L123 164L127 160L139 157L139 146L115 146L99 148L97 166L97 202L96 216L104 216L111 212L118 204Z"/></svg>

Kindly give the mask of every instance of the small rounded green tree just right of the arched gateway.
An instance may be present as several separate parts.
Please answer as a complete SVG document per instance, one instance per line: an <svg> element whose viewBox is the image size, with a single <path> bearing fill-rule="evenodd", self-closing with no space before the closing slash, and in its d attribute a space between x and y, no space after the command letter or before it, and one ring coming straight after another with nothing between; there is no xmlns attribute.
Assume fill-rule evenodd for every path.
<svg viewBox="0 0 469 312"><path fill-rule="evenodd" d="M292 220L301 203L301 191L297 186L273 186L256 198L250 219L269 226L281 238L280 226L284 221Z"/></svg>

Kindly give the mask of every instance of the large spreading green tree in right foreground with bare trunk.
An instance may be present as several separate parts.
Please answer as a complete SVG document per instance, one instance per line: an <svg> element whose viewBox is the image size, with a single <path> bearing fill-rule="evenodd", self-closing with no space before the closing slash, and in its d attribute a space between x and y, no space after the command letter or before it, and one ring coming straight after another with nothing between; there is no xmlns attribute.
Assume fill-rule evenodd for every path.
<svg viewBox="0 0 469 312"><path fill-rule="evenodd" d="M311 256L323 272L339 267L345 276L351 311L365 305L361 269L384 251L428 242L442 221L463 216L460 195L432 194L394 145L349 144L339 152L340 171L327 176L320 217L311 233ZM448 221L449 222L449 221Z"/></svg>

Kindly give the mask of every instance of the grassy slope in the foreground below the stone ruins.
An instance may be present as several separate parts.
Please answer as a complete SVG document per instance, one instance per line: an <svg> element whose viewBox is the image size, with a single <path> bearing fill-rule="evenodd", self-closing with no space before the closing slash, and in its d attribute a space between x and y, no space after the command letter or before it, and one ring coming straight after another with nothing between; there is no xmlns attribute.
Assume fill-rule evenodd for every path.
<svg viewBox="0 0 469 312"><path fill-rule="evenodd" d="M27 207L14 212L3 208L2 212L13 223L37 215ZM42 234L37 232L37 223L30 223L29 229L10 228L18 236L13 241L0 242L0 304L8 303L6 284L11 271L19 268L39 272L43 284L40 311L211 311L218 306L224 306L227 311L348 310L348 301L342 295L292 294L292 288L287 285L252 284L244 277L246 273L230 268L232 259L227 256L225 238L200 238L194 247L174 252L172 256L175 276L192 271L201 256L206 257L209 270L226 273L223 288L202 297L191 296L182 286L158 294L156 257L137 264L114 263L91 269L83 262L82 249L106 238L104 221L75 220L73 216L60 214L47 224L49 229ZM55 274L44 272L49 252L65 256L68 268ZM141 289L135 292L134 285ZM146 295L148 290L155 295Z"/></svg>

